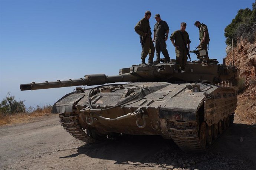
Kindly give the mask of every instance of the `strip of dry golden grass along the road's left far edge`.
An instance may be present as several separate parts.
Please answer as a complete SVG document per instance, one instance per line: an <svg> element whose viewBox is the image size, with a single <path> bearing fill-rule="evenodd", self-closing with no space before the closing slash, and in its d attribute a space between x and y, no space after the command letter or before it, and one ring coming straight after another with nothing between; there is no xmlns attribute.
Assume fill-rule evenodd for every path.
<svg viewBox="0 0 256 170"><path fill-rule="evenodd" d="M47 116L51 115L51 106L44 106L42 109L35 109L35 111L31 113L18 113L15 115L6 115L3 116L0 114L0 126L2 125L10 125L13 123L25 123L29 122L30 120L40 117L40 116Z"/></svg>

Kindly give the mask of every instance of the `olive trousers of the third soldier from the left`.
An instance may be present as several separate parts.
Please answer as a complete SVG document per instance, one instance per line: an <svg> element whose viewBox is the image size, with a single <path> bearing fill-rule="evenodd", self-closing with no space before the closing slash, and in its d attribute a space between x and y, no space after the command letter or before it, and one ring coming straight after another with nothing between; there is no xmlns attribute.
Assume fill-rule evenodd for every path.
<svg viewBox="0 0 256 170"><path fill-rule="evenodd" d="M186 48L175 48L176 52L176 64L175 64L175 69L185 69L185 65L187 64L187 51Z"/></svg>

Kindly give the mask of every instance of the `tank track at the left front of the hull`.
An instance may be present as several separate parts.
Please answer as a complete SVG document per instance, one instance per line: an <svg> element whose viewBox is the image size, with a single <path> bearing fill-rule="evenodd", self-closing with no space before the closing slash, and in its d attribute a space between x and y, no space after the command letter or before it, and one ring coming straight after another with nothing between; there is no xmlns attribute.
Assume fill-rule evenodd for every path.
<svg viewBox="0 0 256 170"><path fill-rule="evenodd" d="M79 139L88 144L96 143L95 139L93 139L91 136L88 136L85 131L83 131L82 126L79 125L78 116L79 115L74 113L59 114L62 127L76 139Z"/></svg>

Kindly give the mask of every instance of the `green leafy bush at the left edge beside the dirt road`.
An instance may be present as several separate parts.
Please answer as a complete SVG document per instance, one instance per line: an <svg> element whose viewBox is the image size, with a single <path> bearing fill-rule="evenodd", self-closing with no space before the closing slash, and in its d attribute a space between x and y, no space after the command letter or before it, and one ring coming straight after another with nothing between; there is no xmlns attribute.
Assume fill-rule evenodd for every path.
<svg viewBox="0 0 256 170"><path fill-rule="evenodd" d="M0 103L0 113L2 115L13 115L17 113L25 113L26 106L25 101L16 101L15 96L12 96L11 92L7 93L7 96Z"/></svg>

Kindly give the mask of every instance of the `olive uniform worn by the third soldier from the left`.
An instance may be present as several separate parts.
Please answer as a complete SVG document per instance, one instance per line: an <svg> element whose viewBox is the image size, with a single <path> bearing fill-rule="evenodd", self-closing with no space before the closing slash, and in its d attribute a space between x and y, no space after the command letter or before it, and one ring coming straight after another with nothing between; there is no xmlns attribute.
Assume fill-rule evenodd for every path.
<svg viewBox="0 0 256 170"><path fill-rule="evenodd" d="M182 38L182 35L184 37L184 41ZM191 41L189 39L189 35L187 31L184 31L183 33L181 30L176 30L171 34L171 39L174 39L175 45L178 45L180 48L175 48L176 53L176 65L175 69L179 69L181 67L181 70L185 69L185 65L187 64L187 50L185 44L190 44Z"/></svg>

